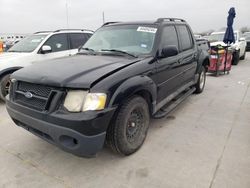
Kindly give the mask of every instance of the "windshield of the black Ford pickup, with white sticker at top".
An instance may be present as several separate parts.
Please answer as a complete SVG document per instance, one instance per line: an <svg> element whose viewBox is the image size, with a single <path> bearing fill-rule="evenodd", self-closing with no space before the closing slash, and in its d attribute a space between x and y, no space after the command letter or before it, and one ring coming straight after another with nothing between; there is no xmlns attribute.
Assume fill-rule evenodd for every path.
<svg viewBox="0 0 250 188"><path fill-rule="evenodd" d="M99 29L83 46L95 52L123 51L134 55L149 54L153 49L157 28L123 25ZM110 51L109 51L110 52Z"/></svg>

